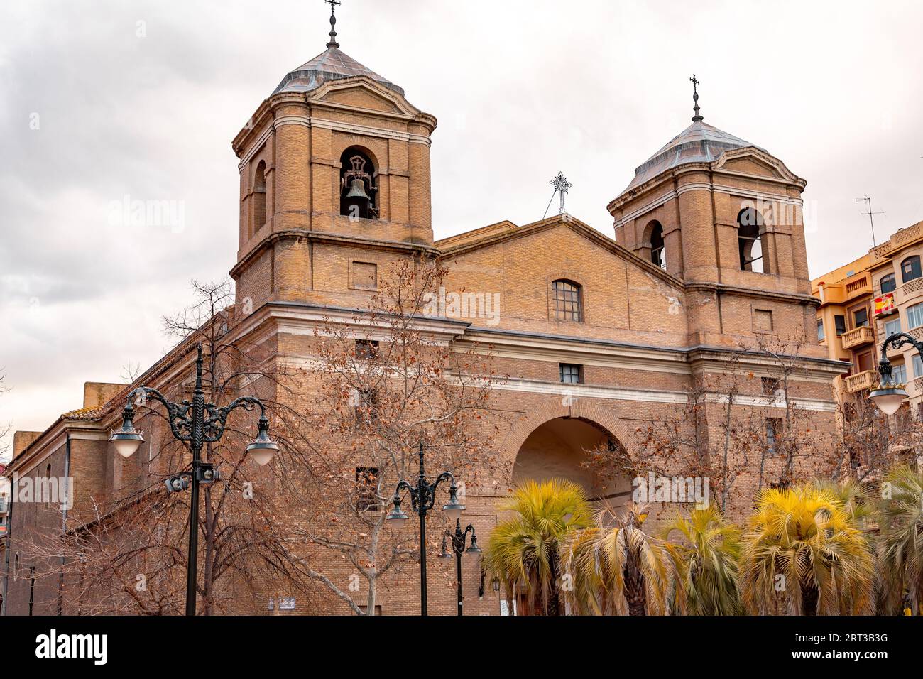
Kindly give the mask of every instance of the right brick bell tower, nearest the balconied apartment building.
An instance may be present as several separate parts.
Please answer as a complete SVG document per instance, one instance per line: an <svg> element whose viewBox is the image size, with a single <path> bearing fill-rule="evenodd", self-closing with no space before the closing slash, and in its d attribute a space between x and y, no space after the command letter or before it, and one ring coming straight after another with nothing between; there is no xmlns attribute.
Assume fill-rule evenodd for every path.
<svg viewBox="0 0 923 679"><path fill-rule="evenodd" d="M813 331L801 193L806 182L749 141L704 121L638 166L609 202L616 241L680 279L689 342Z"/></svg>

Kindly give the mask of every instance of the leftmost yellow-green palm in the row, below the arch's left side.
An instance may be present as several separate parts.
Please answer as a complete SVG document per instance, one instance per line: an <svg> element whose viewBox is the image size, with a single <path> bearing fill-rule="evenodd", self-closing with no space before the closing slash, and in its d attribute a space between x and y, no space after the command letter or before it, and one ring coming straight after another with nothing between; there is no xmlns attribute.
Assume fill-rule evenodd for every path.
<svg viewBox="0 0 923 679"><path fill-rule="evenodd" d="M579 484L564 479L529 480L501 510L516 515L491 532L487 570L503 583L507 600L518 588L525 589L521 615L559 615L559 548L571 531L590 525L586 494Z"/></svg>

